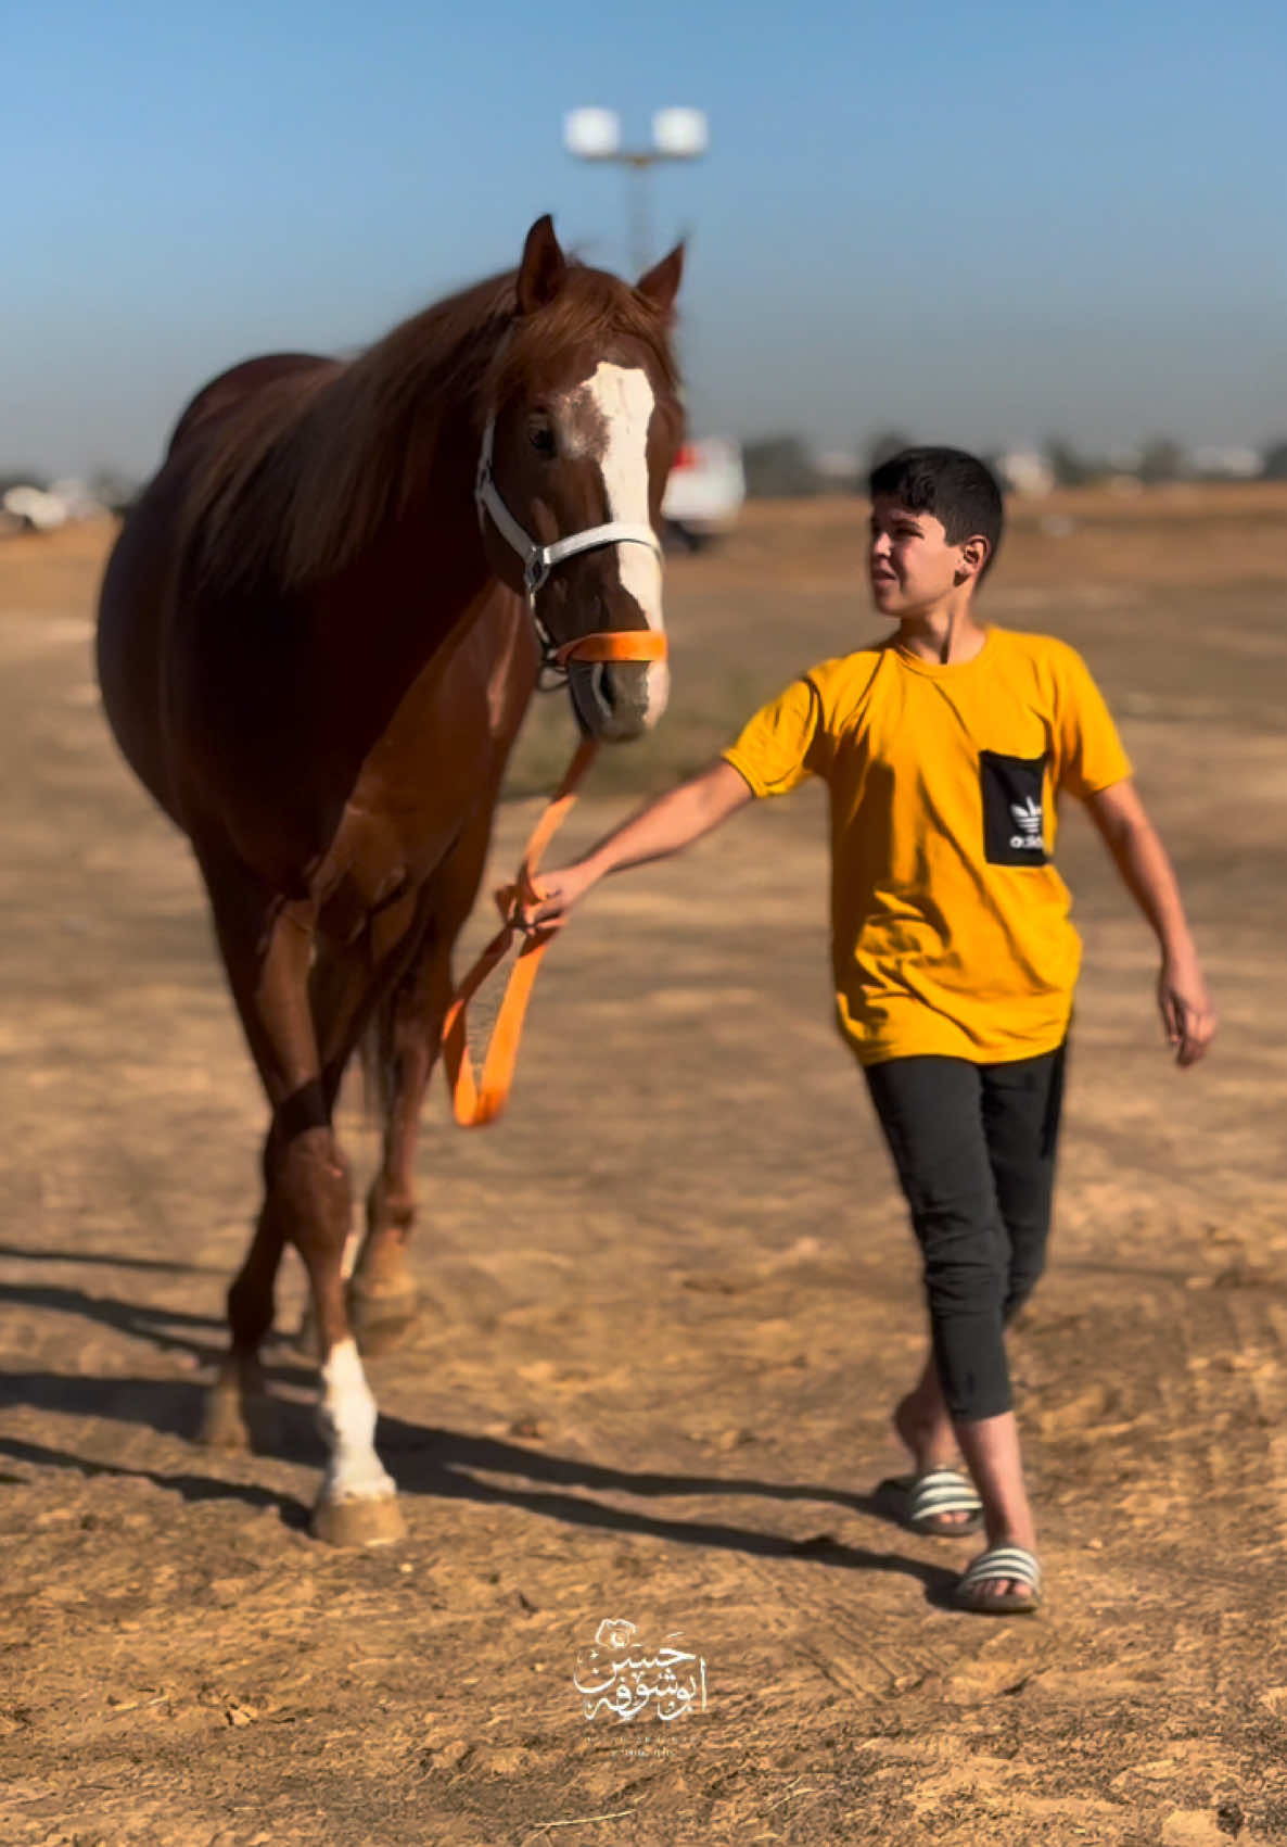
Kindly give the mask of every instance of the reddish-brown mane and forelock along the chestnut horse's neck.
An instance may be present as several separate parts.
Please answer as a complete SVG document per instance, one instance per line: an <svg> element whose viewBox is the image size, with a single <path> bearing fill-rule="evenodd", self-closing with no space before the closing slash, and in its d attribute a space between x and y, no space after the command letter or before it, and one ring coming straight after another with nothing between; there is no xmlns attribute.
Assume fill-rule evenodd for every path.
<svg viewBox="0 0 1287 1847"><path fill-rule="evenodd" d="M273 379L227 412L186 495L190 567L279 589L340 571L425 486L449 419L480 441L534 366L578 347L639 340L676 390L670 316L637 290L569 262L554 301L519 316L515 283L513 270L475 283L356 358Z"/></svg>

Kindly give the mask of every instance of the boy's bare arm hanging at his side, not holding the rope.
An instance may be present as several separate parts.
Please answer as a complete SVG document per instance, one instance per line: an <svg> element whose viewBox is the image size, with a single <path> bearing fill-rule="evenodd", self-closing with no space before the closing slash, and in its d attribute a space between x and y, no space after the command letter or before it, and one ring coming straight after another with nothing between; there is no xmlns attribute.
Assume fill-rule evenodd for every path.
<svg viewBox="0 0 1287 1847"><path fill-rule="evenodd" d="M1176 1064L1197 1064L1215 1036L1217 1016L1167 850L1130 779L1088 796L1086 807L1161 948L1158 1007Z"/></svg>

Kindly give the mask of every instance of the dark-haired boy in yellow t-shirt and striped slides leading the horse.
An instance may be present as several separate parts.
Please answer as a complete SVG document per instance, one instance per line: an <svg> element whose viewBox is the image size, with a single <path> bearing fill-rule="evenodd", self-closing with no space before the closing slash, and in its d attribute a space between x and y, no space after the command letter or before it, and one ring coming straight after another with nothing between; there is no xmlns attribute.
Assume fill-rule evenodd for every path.
<svg viewBox="0 0 1287 1847"><path fill-rule="evenodd" d="M894 1424L905 1516L986 1550L955 1601L1034 1611L1041 1572L1003 1328L1041 1274L1080 942L1051 864L1054 798L1089 809L1161 948L1180 1066L1215 1014L1174 874L1108 709L1062 641L979 624L1001 493L958 449L908 449L870 478L872 598L897 630L824 661L705 772L543 877L524 927L559 927L604 874L676 853L753 796L822 776L840 1031L907 1197L931 1352ZM973 1487L953 1467L956 1448ZM975 1492L977 1491L977 1492Z"/></svg>

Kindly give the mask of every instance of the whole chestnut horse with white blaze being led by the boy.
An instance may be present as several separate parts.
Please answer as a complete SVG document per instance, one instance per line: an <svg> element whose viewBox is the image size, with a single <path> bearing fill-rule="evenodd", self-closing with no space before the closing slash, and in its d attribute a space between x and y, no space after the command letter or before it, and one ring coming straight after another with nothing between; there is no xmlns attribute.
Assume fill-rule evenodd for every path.
<svg viewBox="0 0 1287 1847"><path fill-rule="evenodd" d="M185 410L103 578L107 717L192 842L271 1110L207 1437L249 1441L290 1241L329 1448L314 1531L338 1544L403 1531L355 1334L414 1311L419 1105L537 669L567 674L587 737L637 737L667 702L680 273L676 249L631 288L541 218L515 272L351 362L236 366ZM578 658L620 632L652 645ZM332 1110L364 1032L384 1053L384 1158L345 1287Z"/></svg>

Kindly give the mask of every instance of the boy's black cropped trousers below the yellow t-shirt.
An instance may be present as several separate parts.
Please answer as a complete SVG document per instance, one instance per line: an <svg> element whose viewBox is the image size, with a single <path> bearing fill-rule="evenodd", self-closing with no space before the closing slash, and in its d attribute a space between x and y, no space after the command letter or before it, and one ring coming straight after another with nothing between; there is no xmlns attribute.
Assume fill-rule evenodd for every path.
<svg viewBox="0 0 1287 1847"><path fill-rule="evenodd" d="M1004 1324L1045 1267L1067 1045L1014 1064L890 1058L864 1075L912 1212L944 1400L1010 1409Z"/></svg>

